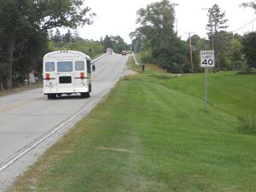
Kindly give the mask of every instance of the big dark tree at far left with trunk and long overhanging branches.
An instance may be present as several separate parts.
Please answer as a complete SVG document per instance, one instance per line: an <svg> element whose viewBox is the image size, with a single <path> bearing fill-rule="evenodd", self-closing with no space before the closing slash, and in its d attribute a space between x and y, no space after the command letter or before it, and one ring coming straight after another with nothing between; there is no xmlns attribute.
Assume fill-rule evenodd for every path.
<svg viewBox="0 0 256 192"><path fill-rule="evenodd" d="M95 14L82 0L0 0L0 34L8 63L7 87L12 88L14 53L34 32L44 33L58 26L75 28L91 24ZM20 41L20 42L19 42Z"/></svg>

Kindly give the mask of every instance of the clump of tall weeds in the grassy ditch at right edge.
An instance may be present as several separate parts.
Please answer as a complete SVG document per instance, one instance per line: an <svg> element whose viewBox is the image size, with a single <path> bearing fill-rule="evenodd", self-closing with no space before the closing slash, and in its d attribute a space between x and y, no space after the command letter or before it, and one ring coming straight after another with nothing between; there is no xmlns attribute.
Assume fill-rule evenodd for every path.
<svg viewBox="0 0 256 192"><path fill-rule="evenodd" d="M241 125L238 130L249 135L256 135L256 118L255 117L239 117Z"/></svg>

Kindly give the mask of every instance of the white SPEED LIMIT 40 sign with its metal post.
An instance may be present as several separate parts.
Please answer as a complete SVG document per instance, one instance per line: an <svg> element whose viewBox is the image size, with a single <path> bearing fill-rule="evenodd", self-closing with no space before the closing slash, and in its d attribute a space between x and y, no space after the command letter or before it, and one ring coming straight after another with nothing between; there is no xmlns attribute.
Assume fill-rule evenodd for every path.
<svg viewBox="0 0 256 192"><path fill-rule="evenodd" d="M201 67L205 68L205 110L207 111L208 95L208 68L215 67L214 50L201 50Z"/></svg>

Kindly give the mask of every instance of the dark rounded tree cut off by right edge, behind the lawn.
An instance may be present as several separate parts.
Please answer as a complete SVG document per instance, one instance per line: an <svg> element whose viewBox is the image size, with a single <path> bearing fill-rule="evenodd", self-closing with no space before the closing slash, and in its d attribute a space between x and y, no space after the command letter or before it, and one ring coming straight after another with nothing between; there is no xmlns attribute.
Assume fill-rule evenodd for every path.
<svg viewBox="0 0 256 192"><path fill-rule="evenodd" d="M244 35L242 44L248 67L256 67L256 32Z"/></svg>

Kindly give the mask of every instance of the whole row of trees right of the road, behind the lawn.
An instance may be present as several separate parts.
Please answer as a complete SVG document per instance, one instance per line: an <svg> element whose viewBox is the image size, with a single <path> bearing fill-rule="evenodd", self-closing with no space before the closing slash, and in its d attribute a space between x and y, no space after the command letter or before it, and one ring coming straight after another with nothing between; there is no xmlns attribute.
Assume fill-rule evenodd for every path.
<svg viewBox="0 0 256 192"><path fill-rule="evenodd" d="M253 2L241 5L256 7ZM256 32L241 36L225 31L228 28L225 12L214 4L207 10L208 38L194 34L183 41L174 30L176 6L176 3L162 0L137 11L140 26L130 33L130 37L131 49L139 52L141 61L156 64L171 73L200 73L200 50L214 49L217 71L238 69L248 73L250 68L256 67Z"/></svg>

